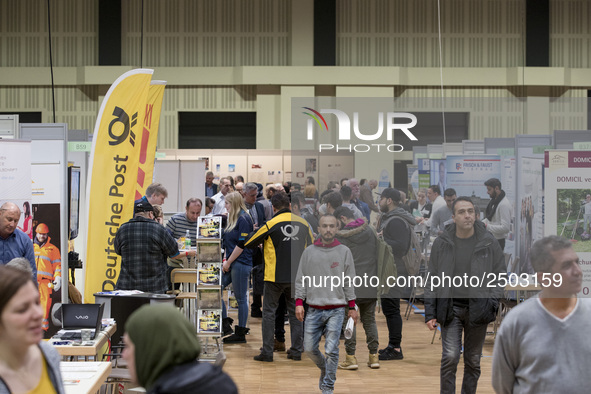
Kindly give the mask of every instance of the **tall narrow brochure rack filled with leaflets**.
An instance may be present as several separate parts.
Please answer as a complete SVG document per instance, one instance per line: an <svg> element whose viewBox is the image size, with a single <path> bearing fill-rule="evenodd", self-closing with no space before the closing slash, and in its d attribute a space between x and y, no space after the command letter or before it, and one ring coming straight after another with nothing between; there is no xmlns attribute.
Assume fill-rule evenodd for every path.
<svg viewBox="0 0 591 394"><path fill-rule="evenodd" d="M215 361L222 351L222 241L221 218L197 220L197 335L201 357Z"/></svg>

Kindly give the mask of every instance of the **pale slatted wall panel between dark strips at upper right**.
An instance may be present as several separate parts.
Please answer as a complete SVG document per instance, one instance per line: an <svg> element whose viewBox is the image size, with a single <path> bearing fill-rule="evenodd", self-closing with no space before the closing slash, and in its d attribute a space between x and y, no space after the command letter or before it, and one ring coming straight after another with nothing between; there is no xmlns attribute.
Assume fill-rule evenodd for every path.
<svg viewBox="0 0 591 394"><path fill-rule="evenodd" d="M524 7L524 0L441 2L443 66L522 65ZM439 67L437 15L432 0L337 1L337 65Z"/></svg>

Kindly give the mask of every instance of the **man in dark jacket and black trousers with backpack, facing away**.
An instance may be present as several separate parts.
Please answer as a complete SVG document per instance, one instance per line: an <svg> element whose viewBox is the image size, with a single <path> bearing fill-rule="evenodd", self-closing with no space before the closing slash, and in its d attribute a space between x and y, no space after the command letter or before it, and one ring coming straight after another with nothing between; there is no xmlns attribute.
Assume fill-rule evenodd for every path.
<svg viewBox="0 0 591 394"><path fill-rule="evenodd" d="M408 253L416 221L414 217L400 207L400 192L391 187L380 194L378 233L392 247L398 276L408 276L403 257ZM401 289L393 287L381 297L382 309L388 325L388 346L379 351L380 360L402 360L402 316L400 316Z"/></svg>

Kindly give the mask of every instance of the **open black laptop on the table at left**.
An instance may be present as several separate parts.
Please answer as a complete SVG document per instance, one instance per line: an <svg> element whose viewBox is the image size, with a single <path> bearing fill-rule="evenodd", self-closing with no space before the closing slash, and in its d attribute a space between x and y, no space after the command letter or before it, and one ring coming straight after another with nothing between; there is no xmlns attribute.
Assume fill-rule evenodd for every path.
<svg viewBox="0 0 591 394"><path fill-rule="evenodd" d="M96 338L101 331L105 304L63 304L62 339L80 339L82 329L92 329L90 339Z"/></svg>

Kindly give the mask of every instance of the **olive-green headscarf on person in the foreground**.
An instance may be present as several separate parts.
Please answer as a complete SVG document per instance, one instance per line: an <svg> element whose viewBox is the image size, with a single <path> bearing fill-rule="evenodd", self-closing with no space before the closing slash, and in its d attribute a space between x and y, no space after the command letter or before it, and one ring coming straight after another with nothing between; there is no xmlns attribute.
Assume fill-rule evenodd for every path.
<svg viewBox="0 0 591 394"><path fill-rule="evenodd" d="M125 332L135 346L137 380L146 391L169 368L195 361L201 352L195 327L170 305L146 305L131 314Z"/></svg>

